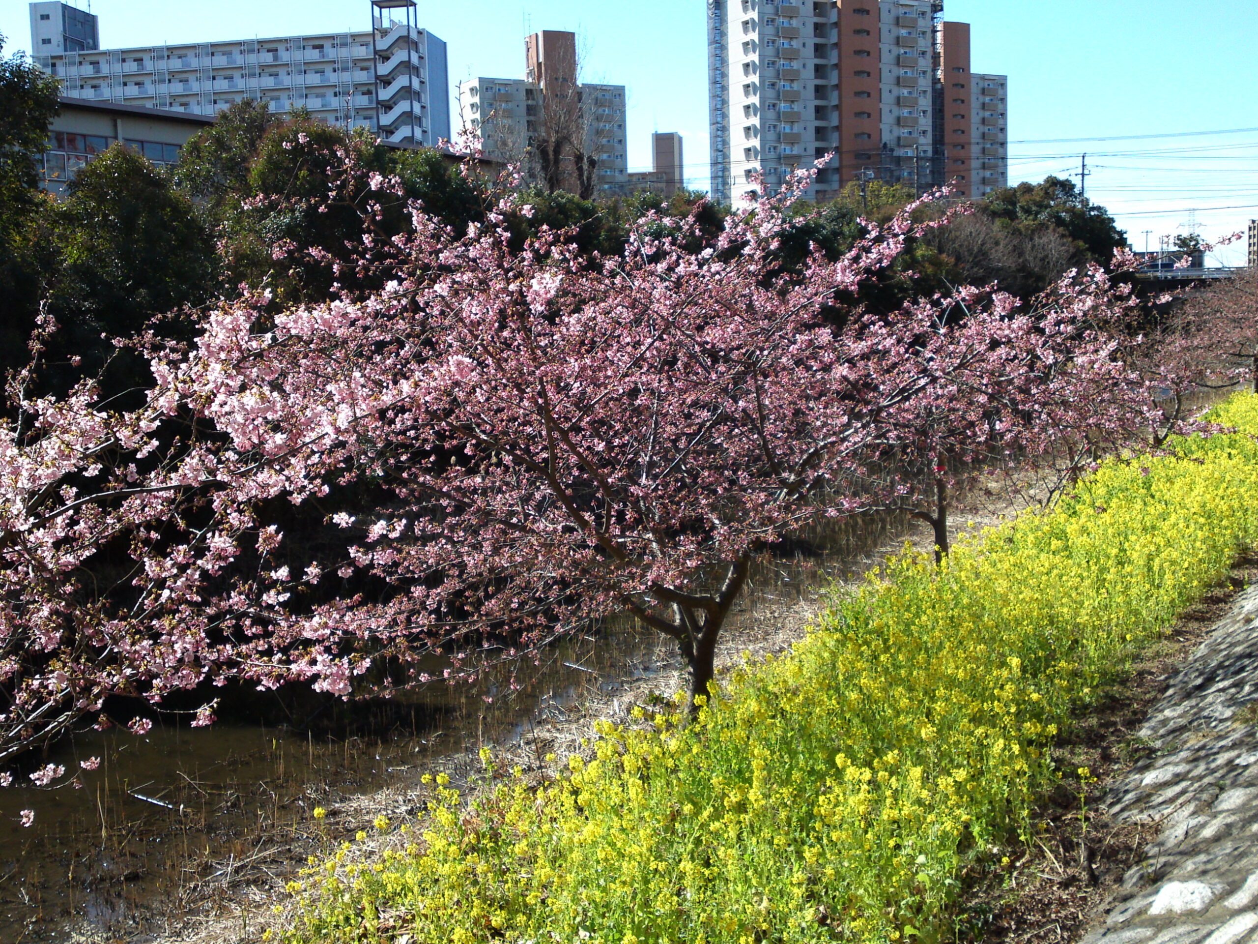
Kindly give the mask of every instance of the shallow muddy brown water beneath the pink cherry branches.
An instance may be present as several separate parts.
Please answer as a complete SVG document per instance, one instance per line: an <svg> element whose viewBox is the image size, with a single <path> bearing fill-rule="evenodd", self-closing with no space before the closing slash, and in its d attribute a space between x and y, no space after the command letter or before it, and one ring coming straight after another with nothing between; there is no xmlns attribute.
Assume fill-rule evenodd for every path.
<svg viewBox="0 0 1258 944"><path fill-rule="evenodd" d="M825 574L858 568L891 524L813 535L762 563L735 622L746 629L765 608L814 595ZM70 785L0 790L0 941L63 941L72 924L77 940L142 939L146 926L204 901L214 882L283 875L286 838L350 827L317 823L316 806L411 783L444 755L518 740L590 694L672 667L662 637L618 624L517 670L509 695L491 676L474 688L433 685L404 702L313 712L309 702L250 702L244 719L208 729L159 715L143 736L75 735L42 761L78 772ZM101 758L98 769L81 768L89 758ZM23 809L35 813L30 828L19 823Z"/></svg>

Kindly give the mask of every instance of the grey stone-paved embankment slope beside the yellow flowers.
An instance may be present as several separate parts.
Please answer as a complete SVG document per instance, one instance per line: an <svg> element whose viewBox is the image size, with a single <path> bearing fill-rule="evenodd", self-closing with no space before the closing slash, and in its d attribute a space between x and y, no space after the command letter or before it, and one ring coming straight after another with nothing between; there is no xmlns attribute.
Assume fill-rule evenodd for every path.
<svg viewBox="0 0 1258 944"><path fill-rule="evenodd" d="M1160 832L1083 944L1258 944L1258 584L1171 680L1107 793Z"/></svg>

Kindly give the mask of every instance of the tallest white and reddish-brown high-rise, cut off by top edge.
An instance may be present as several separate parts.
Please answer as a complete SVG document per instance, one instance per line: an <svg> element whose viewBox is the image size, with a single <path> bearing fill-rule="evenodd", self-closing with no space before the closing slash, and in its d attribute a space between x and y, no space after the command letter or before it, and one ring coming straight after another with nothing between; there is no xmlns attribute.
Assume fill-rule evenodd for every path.
<svg viewBox="0 0 1258 944"><path fill-rule="evenodd" d="M809 196L853 180L981 196L1005 183L1008 79L970 69L942 0L708 0L712 194L777 188L834 152Z"/></svg>

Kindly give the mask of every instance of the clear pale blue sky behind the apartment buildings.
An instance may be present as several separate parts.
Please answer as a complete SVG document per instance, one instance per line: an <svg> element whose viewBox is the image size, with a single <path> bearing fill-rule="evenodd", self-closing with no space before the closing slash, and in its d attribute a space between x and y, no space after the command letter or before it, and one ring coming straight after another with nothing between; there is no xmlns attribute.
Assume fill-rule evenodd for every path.
<svg viewBox="0 0 1258 944"><path fill-rule="evenodd" d="M81 6L87 0L79 0ZM707 64L702 0L420 0L420 23L449 44L460 78L518 76L523 37L581 37L585 77L629 88L629 165L650 162L652 131L679 131L687 176L707 186ZM1258 218L1258 131L1190 137L1055 142L1258 128L1258 0L946 0L972 24L974 68L1010 84L1010 179L1078 172L1137 249ZM367 0L93 0L106 47L362 29ZM29 44L23 0L0 0L8 49ZM1044 143L1039 143L1044 142ZM1237 208L1237 209L1218 209ZM1242 244L1220 261L1243 258Z"/></svg>

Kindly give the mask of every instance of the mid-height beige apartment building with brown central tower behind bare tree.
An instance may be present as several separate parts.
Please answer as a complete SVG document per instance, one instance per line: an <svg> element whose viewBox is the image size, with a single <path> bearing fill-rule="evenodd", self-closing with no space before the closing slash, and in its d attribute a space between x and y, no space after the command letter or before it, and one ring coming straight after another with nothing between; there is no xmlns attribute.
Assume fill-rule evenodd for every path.
<svg viewBox="0 0 1258 944"><path fill-rule="evenodd" d="M538 181L590 195L624 191L625 87L577 81L575 33L535 33L525 53L525 78L459 83L463 137Z"/></svg>

